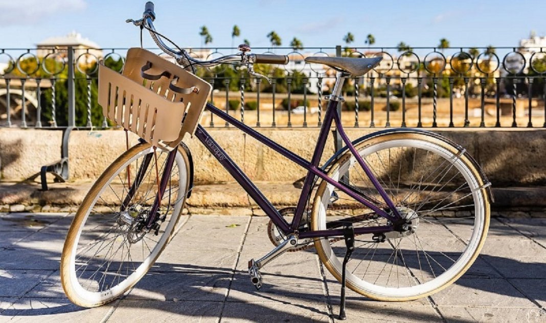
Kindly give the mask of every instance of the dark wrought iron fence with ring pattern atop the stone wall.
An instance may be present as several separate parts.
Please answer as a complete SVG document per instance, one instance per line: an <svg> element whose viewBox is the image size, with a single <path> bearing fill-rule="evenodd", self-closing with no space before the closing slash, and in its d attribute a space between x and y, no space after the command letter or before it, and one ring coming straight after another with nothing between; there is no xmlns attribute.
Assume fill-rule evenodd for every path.
<svg viewBox="0 0 546 323"><path fill-rule="evenodd" d="M96 103L97 62L121 71L126 48L0 49L0 126L109 127ZM161 54L159 50L152 51ZM211 59L234 48L188 49ZM354 127L546 127L543 48L253 48L288 54L286 66L218 66L197 74L213 85L210 101L256 127L317 127L335 71L307 56L382 56L346 82L342 120ZM502 57L502 59L500 58ZM205 113L201 123L226 127Z"/></svg>

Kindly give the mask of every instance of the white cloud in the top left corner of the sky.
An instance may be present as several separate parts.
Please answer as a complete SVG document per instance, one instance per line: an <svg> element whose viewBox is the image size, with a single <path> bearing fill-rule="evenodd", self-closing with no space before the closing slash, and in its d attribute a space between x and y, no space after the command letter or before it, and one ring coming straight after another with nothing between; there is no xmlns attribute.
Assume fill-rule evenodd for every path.
<svg viewBox="0 0 546 323"><path fill-rule="evenodd" d="M3 1L0 26L35 25L44 19L70 14L87 7L85 0Z"/></svg>

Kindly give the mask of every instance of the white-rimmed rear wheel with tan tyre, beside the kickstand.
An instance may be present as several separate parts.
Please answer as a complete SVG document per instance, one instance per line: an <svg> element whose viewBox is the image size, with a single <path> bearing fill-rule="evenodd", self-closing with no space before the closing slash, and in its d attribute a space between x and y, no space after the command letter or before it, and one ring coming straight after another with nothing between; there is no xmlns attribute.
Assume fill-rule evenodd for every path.
<svg viewBox="0 0 546 323"><path fill-rule="evenodd" d="M408 301L456 281L476 260L489 227L489 184L478 169L464 151L427 133L387 133L355 148L410 228L355 236L347 286L376 300ZM388 210L350 153L333 163L329 176ZM312 230L345 223L354 228L390 224L322 181L313 201ZM314 245L323 264L341 280L343 239L316 239Z"/></svg>

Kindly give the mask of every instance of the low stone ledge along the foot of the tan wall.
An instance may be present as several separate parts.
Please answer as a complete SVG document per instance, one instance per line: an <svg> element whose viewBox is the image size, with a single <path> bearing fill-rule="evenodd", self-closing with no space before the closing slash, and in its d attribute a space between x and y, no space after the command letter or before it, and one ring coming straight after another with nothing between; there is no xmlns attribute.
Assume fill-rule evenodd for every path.
<svg viewBox="0 0 546 323"><path fill-rule="evenodd" d="M75 212L91 187L91 182L50 185L40 191L38 183L0 183L0 212ZM300 189L291 183L257 182L264 195L278 208L295 206ZM546 187L493 188L492 215L546 217ZM184 212L189 214L265 216L256 203L236 183L198 185L193 188Z"/></svg>

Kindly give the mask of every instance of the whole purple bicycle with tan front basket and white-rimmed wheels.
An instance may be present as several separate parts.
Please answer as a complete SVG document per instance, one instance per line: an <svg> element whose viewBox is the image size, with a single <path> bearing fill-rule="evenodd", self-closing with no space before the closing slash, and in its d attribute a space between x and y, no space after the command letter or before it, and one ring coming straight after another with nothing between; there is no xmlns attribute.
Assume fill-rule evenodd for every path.
<svg viewBox="0 0 546 323"><path fill-rule="evenodd" d="M476 260L489 227L490 182L464 148L416 129L387 129L355 141L343 131L337 113L343 82L366 74L381 58L306 58L337 70L317 144L307 161L206 103L210 85L191 74L194 66L225 63L246 65L251 75L265 77L253 70L253 64L286 64L288 57L250 54L250 47L241 45L237 54L198 60L165 45L162 38L167 38L156 31L153 21L153 4L148 2L142 19L127 22L141 32L147 29L159 48L182 67L132 48L123 73L134 72L137 82L123 83L117 90L113 83L99 84L105 115L143 139L106 168L76 212L61 259L61 281L70 301L94 307L114 300L144 276L167 245L193 187L191 151L181 141L185 133L194 134L270 218L268 234L274 248L248 265L256 288L262 285L260 269L269 261L314 246L342 283L343 318L345 285L376 300L414 300L446 288ZM101 71L108 73L104 66L99 75ZM104 75L99 78L119 77ZM181 86L186 79L191 84ZM146 129L146 123L135 121L144 111L144 99L138 96L144 92L161 98L169 108L191 101L179 115L183 122L177 119L170 125L174 137L161 139L157 134L163 128ZM115 107L118 110L111 110ZM150 107L145 106L146 113ZM295 208L277 210L198 125L204 109L307 170ZM156 108L154 117L149 114L147 124L165 119L160 112ZM346 147L319 167L333 123Z"/></svg>

